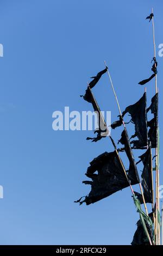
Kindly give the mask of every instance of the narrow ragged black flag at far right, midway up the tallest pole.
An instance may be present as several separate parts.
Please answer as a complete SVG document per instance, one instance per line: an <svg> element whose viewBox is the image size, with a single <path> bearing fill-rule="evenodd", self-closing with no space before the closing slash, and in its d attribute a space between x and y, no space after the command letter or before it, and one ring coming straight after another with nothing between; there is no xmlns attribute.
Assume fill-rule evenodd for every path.
<svg viewBox="0 0 163 256"><path fill-rule="evenodd" d="M152 148L156 148L158 145L158 99L159 95L156 93L151 100L151 105L147 108L147 112L151 109L151 113L154 114L154 118L147 122L149 127L148 138L151 141Z"/></svg>

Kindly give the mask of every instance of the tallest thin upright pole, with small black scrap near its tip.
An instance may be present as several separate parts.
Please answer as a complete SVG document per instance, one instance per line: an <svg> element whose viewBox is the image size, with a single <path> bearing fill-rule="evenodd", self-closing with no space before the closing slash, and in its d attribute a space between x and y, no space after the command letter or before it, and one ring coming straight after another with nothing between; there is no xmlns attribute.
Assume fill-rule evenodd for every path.
<svg viewBox="0 0 163 256"><path fill-rule="evenodd" d="M152 8L153 13L153 8ZM156 57L156 47L155 47L155 29L154 29L154 17L152 17L152 27L153 27L153 47L154 47L154 57ZM156 64L155 64L156 68ZM157 87L157 74L155 75L155 93L158 93ZM155 221L156 221L156 245L160 245L160 225L158 224L158 211L160 210L160 202L159 202L159 168L158 168L158 123L156 127L156 148L155 148L155 204L156 204L156 212L155 212Z"/></svg>

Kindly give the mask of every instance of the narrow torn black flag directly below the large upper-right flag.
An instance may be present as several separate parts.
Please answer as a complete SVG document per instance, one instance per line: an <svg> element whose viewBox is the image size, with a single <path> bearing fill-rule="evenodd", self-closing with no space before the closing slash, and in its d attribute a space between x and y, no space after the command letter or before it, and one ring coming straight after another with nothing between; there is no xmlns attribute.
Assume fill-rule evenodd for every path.
<svg viewBox="0 0 163 256"><path fill-rule="evenodd" d="M147 149L147 151L139 156L140 161L143 162L143 171L141 174L141 184L143 187L143 195L145 197L146 203L153 203L152 198L152 155L151 155L151 147ZM135 192L135 196L139 199L140 203L143 204L142 195Z"/></svg>

